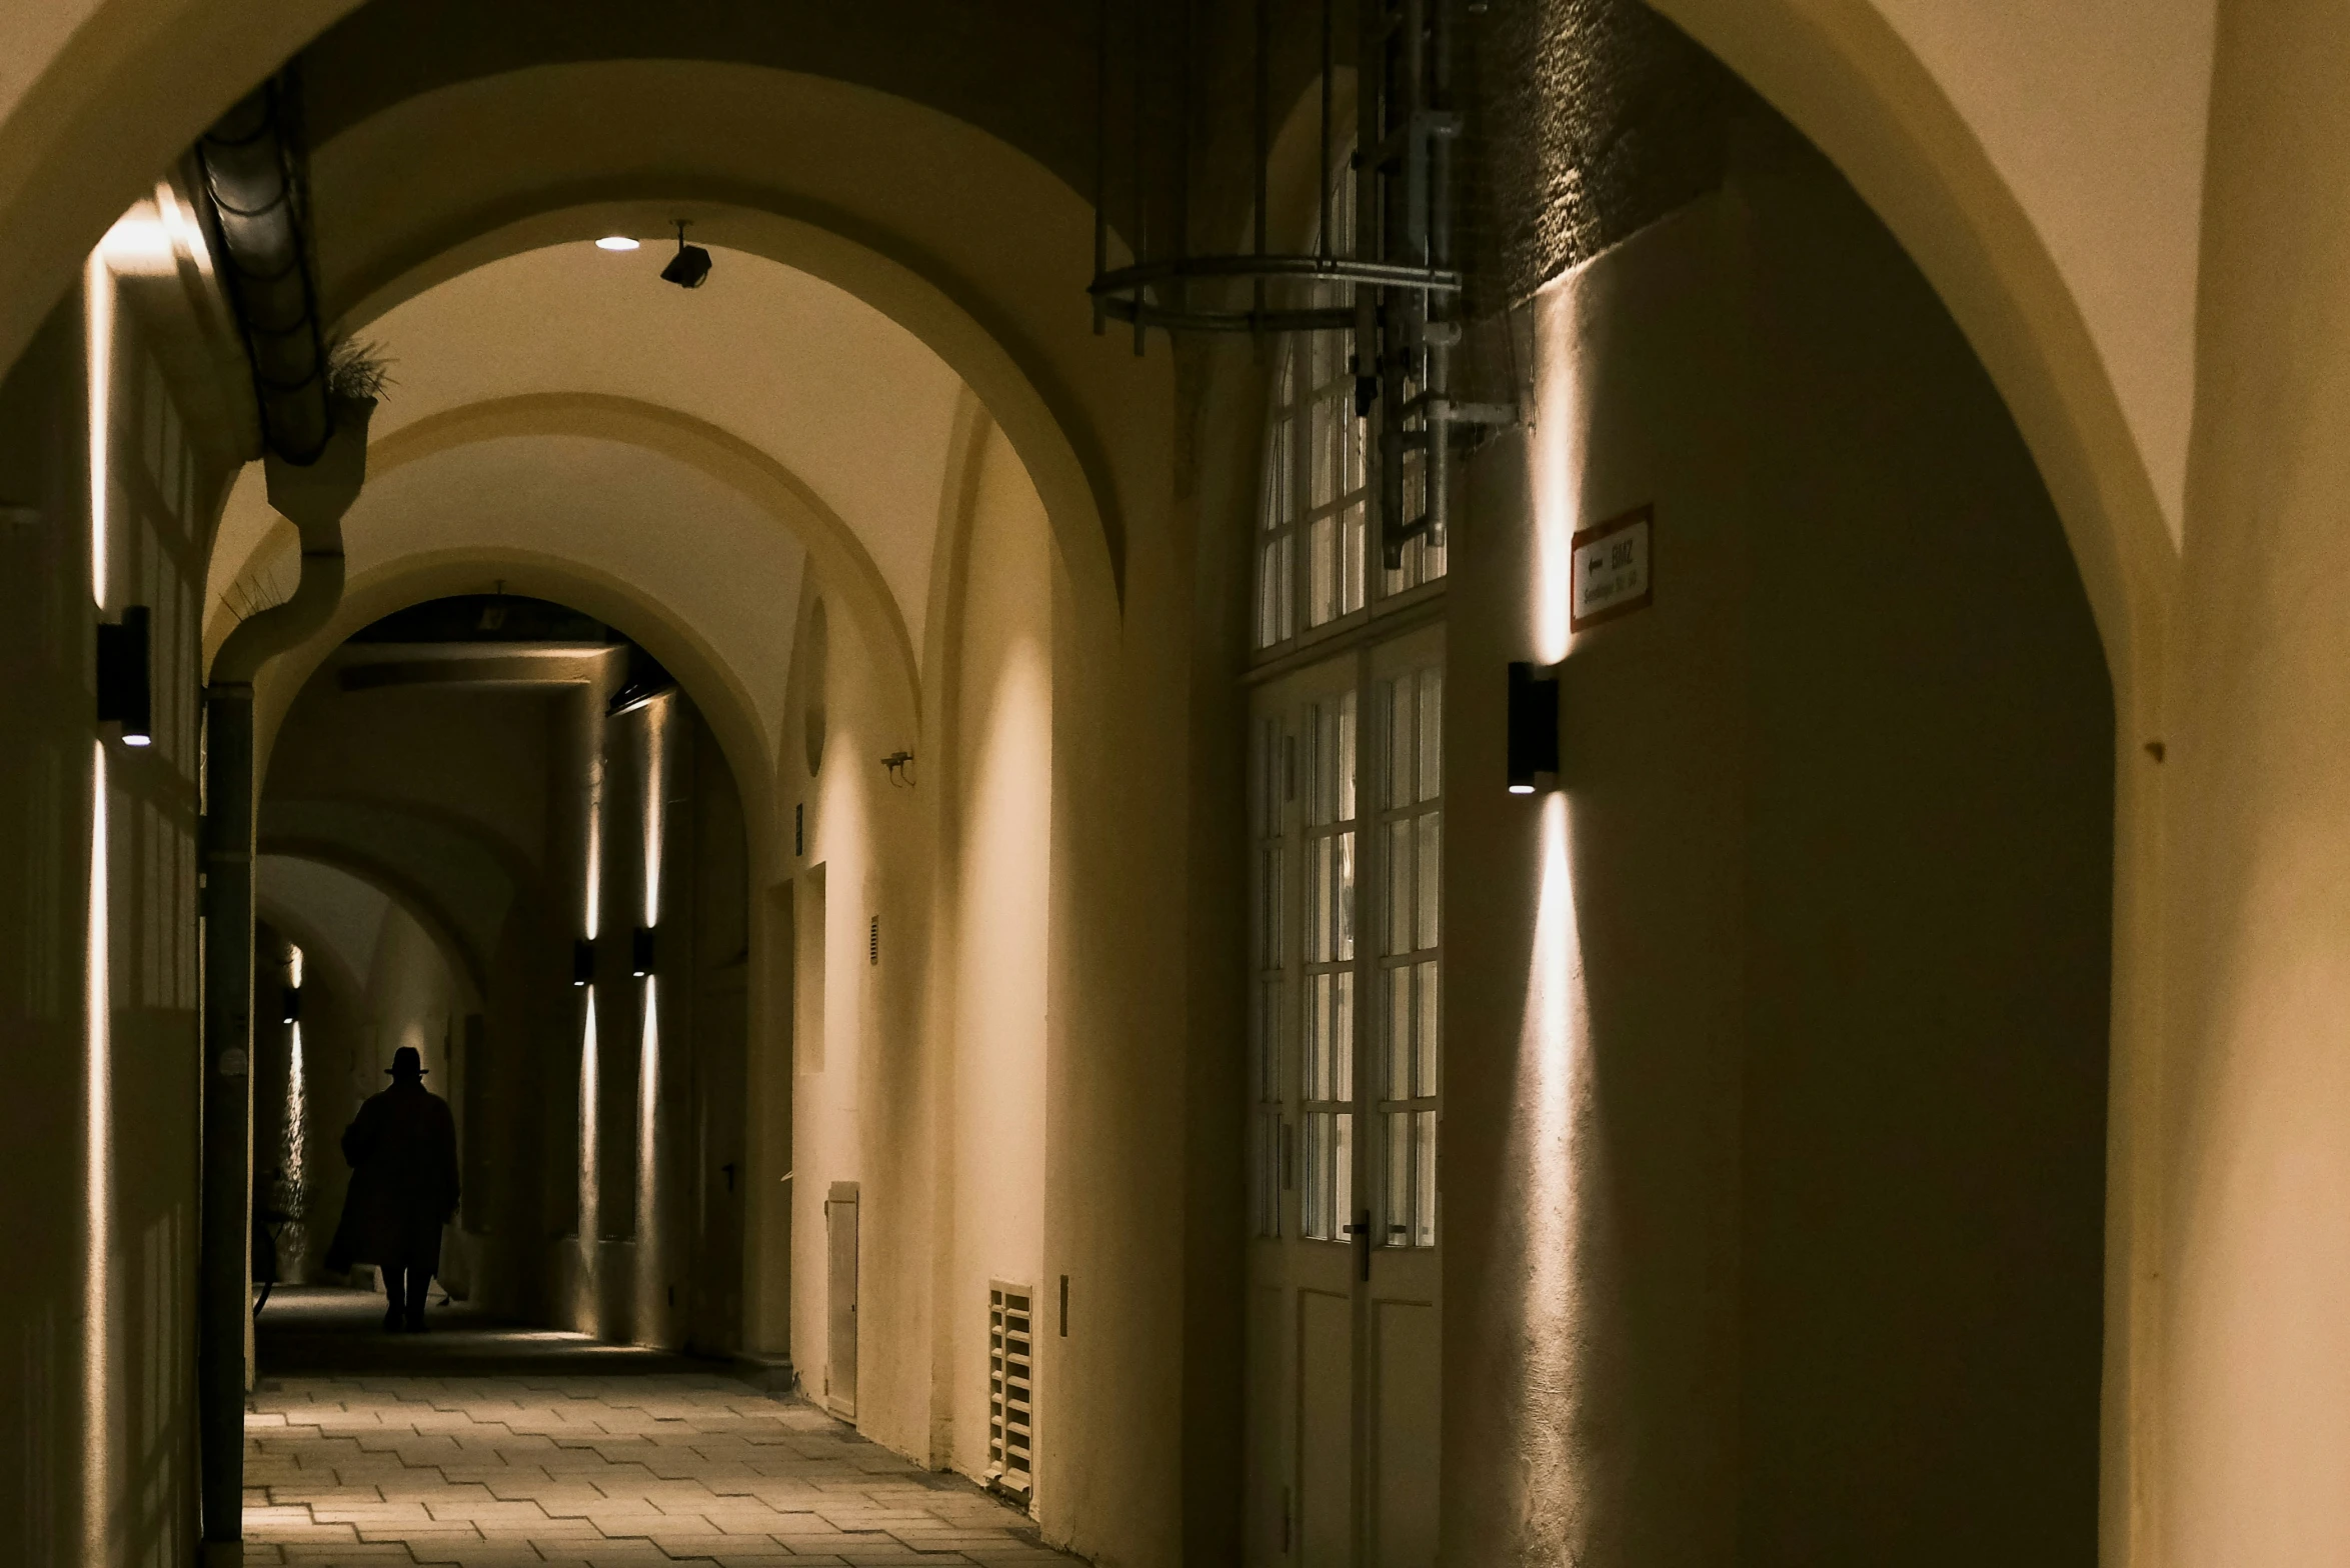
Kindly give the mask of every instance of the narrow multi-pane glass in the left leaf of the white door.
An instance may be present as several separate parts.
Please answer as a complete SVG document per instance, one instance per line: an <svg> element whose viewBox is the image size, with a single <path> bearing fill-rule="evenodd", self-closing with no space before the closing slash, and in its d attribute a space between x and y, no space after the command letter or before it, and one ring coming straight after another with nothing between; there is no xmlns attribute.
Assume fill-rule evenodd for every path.
<svg viewBox="0 0 2350 1568"><path fill-rule="evenodd" d="M1356 695L1304 721L1304 1192L1300 1228L1335 1242L1354 1223Z"/></svg>

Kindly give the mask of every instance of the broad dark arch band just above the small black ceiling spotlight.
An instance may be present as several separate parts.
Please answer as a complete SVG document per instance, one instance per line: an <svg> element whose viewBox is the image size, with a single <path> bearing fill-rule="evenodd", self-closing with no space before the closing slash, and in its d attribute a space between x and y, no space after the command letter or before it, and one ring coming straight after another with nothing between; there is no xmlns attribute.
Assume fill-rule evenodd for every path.
<svg viewBox="0 0 2350 1568"><path fill-rule="evenodd" d="M564 106L606 103L580 136ZM569 131L550 134L550 127ZM888 148L931 148L919 167ZM479 157L498 148L498 160ZM470 164L416 200L418 162ZM1006 143L851 82L712 61L531 66L400 101L315 153L322 228L369 232L322 258L327 310L364 324L444 277L634 218L691 209L696 237L808 272L905 326L1020 453L1081 592L1123 601L1137 481L1166 451L1119 430L1173 411L1166 354L1095 340L1090 204ZM947 174L952 171L952 176ZM324 195L334 192L334 195ZM985 192L985 204L968 195ZM964 211L931 211L949 204ZM348 207L348 214L345 214ZM402 211L407 207L407 211ZM402 211L385 228L385 211ZM968 221L966 221L968 218ZM1001 242L989 228L1015 228ZM961 246L956 242L964 242ZM956 249L996 251L985 261ZM1147 493L1147 491L1140 491Z"/></svg>

